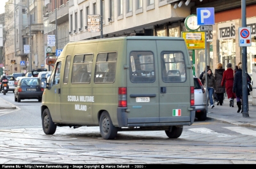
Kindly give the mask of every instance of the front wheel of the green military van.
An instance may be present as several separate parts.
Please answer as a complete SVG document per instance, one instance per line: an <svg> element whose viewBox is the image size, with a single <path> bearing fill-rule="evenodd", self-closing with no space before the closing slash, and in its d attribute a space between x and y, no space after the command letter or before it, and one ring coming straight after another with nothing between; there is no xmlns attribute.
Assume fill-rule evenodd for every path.
<svg viewBox="0 0 256 169"><path fill-rule="evenodd" d="M42 126L44 129L44 133L46 135L53 135L56 131L56 124L52 122L51 114L48 110L48 108L45 108L43 115L42 115Z"/></svg>

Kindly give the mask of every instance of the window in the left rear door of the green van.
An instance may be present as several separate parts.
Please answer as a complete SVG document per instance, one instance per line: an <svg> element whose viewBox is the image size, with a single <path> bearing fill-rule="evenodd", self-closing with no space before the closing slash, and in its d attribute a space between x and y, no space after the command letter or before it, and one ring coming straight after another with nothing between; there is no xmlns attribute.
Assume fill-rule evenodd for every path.
<svg viewBox="0 0 256 169"><path fill-rule="evenodd" d="M132 83L155 82L154 55L152 52L131 52L130 65L130 80Z"/></svg>

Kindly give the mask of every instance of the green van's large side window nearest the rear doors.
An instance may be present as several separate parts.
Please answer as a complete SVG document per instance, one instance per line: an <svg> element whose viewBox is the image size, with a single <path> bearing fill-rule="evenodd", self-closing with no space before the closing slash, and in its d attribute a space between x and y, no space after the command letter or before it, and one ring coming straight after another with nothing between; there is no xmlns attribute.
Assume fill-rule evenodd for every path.
<svg viewBox="0 0 256 169"><path fill-rule="evenodd" d="M113 83L115 82L117 54L100 53L97 55L95 67L95 83Z"/></svg>

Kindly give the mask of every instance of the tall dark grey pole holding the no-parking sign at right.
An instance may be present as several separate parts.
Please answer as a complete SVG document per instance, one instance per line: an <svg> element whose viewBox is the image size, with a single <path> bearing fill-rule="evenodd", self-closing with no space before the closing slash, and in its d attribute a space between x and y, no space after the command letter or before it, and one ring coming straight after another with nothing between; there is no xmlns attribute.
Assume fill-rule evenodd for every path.
<svg viewBox="0 0 256 169"><path fill-rule="evenodd" d="M246 0L241 0L242 27L246 27ZM247 47L242 47L242 77L243 77L243 117L249 117L247 94Z"/></svg>

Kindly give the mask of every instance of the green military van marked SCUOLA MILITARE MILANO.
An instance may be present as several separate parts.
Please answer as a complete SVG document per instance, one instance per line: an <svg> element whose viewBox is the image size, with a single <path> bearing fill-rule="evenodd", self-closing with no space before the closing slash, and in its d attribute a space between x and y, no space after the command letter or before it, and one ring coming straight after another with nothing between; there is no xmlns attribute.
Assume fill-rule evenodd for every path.
<svg viewBox="0 0 256 169"><path fill-rule="evenodd" d="M42 78L42 128L163 130L179 138L195 120L192 65L183 38L125 36L68 43ZM150 135L150 132L148 132Z"/></svg>

